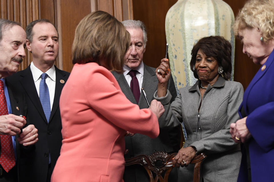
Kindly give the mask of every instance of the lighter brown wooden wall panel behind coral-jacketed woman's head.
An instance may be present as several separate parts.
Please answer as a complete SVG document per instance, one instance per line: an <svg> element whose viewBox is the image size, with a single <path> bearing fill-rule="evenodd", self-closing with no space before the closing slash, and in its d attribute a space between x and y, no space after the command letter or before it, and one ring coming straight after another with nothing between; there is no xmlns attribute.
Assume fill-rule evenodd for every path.
<svg viewBox="0 0 274 182"><path fill-rule="evenodd" d="M97 10L106 11L115 16L118 20L127 20L132 15L132 0L56 0L57 19L59 36L62 38L61 69L70 72L73 65L71 61L71 47L74 39L74 32L80 20L89 13ZM58 3L60 2L60 3ZM60 20L59 17L60 16ZM60 26L61 25L61 26ZM61 32L61 33L60 33ZM60 42L59 42L60 45ZM60 60L60 56L59 56ZM60 64L60 65L61 65Z"/></svg>

